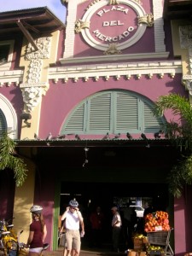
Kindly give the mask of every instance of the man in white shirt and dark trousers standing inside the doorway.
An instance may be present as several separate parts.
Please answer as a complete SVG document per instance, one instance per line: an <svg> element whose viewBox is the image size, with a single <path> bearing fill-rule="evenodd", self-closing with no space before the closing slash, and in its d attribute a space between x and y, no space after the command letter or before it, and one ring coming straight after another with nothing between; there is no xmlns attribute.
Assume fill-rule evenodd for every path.
<svg viewBox="0 0 192 256"><path fill-rule="evenodd" d="M117 207L112 207L111 210L112 210L112 213L113 213L113 219L112 219L113 251L118 253L119 252L120 230L121 230L122 222L121 222L120 214L118 212L118 208Z"/></svg>

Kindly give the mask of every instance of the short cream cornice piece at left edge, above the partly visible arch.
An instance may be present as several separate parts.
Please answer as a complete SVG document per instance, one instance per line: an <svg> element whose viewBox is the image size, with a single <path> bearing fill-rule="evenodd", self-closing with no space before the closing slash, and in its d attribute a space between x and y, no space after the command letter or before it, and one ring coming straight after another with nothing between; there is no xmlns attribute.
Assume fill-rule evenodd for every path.
<svg viewBox="0 0 192 256"><path fill-rule="evenodd" d="M22 70L0 71L0 87L9 84L20 84L23 79Z"/></svg>

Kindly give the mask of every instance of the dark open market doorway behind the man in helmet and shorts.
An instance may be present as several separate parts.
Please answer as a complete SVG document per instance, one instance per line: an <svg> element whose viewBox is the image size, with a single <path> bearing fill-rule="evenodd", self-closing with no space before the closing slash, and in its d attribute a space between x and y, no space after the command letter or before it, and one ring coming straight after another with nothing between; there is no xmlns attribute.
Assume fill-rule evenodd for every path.
<svg viewBox="0 0 192 256"><path fill-rule="evenodd" d="M111 249L113 218L111 207L119 207L123 218L123 208L126 201L131 204L147 207L150 201L155 203L162 211L168 207L168 189L166 184L160 183L78 183L63 182L61 184L60 214L62 214L68 202L76 199L79 202L79 209L84 217L85 236L82 239L82 247L91 247L91 224L90 214L101 207L103 214L102 224L102 247ZM121 235L121 249L125 249L126 241L124 234Z"/></svg>

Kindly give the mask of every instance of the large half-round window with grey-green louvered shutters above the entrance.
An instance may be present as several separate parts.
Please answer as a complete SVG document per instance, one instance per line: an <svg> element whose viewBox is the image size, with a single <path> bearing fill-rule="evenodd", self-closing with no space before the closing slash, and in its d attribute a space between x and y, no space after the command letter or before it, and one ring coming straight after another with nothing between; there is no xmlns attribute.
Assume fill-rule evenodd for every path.
<svg viewBox="0 0 192 256"><path fill-rule="evenodd" d="M61 134L151 133L164 119L153 114L154 103L127 90L106 90L80 102L68 116Z"/></svg>

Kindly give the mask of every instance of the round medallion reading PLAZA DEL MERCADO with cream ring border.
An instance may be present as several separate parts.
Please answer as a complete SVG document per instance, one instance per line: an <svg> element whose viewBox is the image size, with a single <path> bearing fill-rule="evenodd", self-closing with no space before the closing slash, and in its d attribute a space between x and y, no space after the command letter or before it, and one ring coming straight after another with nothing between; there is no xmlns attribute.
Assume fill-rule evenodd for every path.
<svg viewBox="0 0 192 256"><path fill-rule="evenodd" d="M81 29L82 24L89 24ZM143 37L147 26L153 26L153 15L146 14L140 1L94 1L80 20L80 32L87 44L108 52L109 45L126 49ZM75 26L77 30L77 25Z"/></svg>

